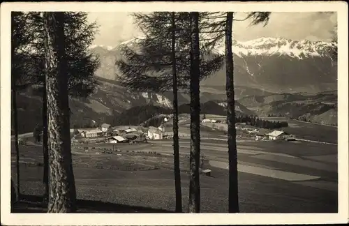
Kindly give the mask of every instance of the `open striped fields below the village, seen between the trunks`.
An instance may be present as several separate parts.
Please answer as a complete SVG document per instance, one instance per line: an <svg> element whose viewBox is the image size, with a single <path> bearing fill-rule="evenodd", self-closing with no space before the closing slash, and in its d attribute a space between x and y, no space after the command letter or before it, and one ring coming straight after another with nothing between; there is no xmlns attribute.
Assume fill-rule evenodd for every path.
<svg viewBox="0 0 349 226"><path fill-rule="evenodd" d="M183 208L187 211L190 140L181 139L179 145ZM337 211L336 146L238 140L237 149L242 212ZM172 140L114 144L114 151L112 144L79 144L72 150L78 199L174 211ZM211 176L200 176L202 212L228 211L227 151L224 141L201 142L202 168L212 170ZM20 146L20 153L22 193L42 195L42 147ZM13 176L14 169L13 164Z"/></svg>

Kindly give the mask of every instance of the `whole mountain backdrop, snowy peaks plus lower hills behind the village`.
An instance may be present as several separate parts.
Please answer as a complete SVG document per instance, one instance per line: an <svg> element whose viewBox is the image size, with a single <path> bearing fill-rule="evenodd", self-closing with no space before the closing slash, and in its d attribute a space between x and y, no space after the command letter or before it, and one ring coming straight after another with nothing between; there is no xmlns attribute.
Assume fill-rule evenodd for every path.
<svg viewBox="0 0 349 226"><path fill-rule="evenodd" d="M98 86L87 99L70 99L72 125L91 121L127 123L146 121L149 115L172 112L172 92L132 92L118 82L116 59L120 46L137 47L138 39L117 47L91 46L99 55L101 67L96 71ZM315 123L337 123L336 61L331 51L334 43L292 41L283 38L259 38L233 43L235 53L235 112L237 114L283 114ZM223 45L216 52L223 51ZM190 95L180 92L179 106L188 113ZM201 82L202 113L225 115L225 67ZM33 131L41 123L41 99L28 89L18 95L20 133ZM148 112L144 119L139 113ZM123 113L124 112L124 113ZM130 114L129 114L130 113ZM117 118L117 119L116 119ZM30 120L28 120L30 119ZM130 122L130 121L129 121Z"/></svg>

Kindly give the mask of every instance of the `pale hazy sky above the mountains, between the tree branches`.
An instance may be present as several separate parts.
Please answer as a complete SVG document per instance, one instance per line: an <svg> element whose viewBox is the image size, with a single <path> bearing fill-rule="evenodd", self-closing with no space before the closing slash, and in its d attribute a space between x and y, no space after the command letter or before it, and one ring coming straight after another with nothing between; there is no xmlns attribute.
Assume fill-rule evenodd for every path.
<svg viewBox="0 0 349 226"><path fill-rule="evenodd" d="M244 18L237 13L237 19ZM89 13L89 20L96 21L99 33L96 45L117 45L140 35L133 18L128 13ZM252 26L251 21L235 22L234 37L237 40L251 40L260 37L281 37L293 40L331 40L336 24L336 13L272 13L267 26Z"/></svg>

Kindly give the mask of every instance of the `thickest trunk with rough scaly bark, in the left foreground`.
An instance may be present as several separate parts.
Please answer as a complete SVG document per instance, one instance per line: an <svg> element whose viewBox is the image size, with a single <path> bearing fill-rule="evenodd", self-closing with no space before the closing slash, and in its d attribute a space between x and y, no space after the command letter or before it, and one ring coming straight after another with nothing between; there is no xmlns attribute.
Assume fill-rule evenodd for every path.
<svg viewBox="0 0 349 226"><path fill-rule="evenodd" d="M71 213L76 211L76 191L70 151L64 13L44 13L44 34L50 158L48 212Z"/></svg>

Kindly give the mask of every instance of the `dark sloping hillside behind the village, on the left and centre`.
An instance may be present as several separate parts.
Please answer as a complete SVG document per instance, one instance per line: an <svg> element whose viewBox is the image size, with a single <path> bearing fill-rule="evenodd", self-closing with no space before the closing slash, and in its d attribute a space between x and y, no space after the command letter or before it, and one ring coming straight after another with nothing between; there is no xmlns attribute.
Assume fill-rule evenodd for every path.
<svg viewBox="0 0 349 226"><path fill-rule="evenodd" d="M203 89L205 90L205 89ZM215 100L214 105L207 104L207 114L215 112L225 114L225 108L219 106L225 99L225 93L200 93L201 103ZM188 93L179 93L179 106L190 103ZM163 94L150 92L131 92L117 81L98 79L96 91L87 99L70 98L69 106L71 126L89 127L94 124L111 123L115 125L135 125L146 121L155 114L172 112L172 92ZM32 132L37 124L41 124L42 101L31 89L17 95L19 133ZM239 106L239 112L251 112ZM126 111L128 110L128 111ZM249 113L248 113L249 114ZM95 123L94 123L95 121Z"/></svg>

